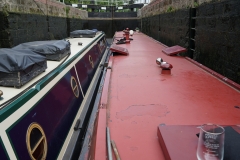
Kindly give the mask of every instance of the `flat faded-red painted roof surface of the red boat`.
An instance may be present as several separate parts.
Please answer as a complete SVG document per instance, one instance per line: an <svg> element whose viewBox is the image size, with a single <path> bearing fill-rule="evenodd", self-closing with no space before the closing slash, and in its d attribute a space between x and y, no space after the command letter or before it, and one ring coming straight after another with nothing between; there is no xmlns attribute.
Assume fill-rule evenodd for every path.
<svg viewBox="0 0 240 160"><path fill-rule="evenodd" d="M115 37L122 34L116 32ZM131 38L130 44L119 45L128 49L128 56L110 58L106 114L100 109L98 119L104 126L100 122L107 116L106 126L121 159L164 160L159 125L240 124L239 90L184 57L164 54L167 46L143 33ZM173 65L171 74L161 73L159 57ZM99 139L96 142L97 147ZM98 149L95 159L105 154Z"/></svg>

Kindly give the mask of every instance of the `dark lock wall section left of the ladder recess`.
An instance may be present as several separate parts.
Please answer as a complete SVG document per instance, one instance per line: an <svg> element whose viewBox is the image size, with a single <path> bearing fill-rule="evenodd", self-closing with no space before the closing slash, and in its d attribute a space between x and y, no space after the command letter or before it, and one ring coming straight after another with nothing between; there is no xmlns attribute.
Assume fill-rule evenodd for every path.
<svg viewBox="0 0 240 160"><path fill-rule="evenodd" d="M142 31L154 39L172 46L188 48L189 10L142 18Z"/></svg>

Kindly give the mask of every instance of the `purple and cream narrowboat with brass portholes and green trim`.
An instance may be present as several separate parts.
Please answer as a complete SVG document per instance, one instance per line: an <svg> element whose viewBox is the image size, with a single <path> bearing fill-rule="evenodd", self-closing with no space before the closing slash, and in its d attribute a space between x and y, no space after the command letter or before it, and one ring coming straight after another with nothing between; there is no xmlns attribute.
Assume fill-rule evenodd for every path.
<svg viewBox="0 0 240 160"><path fill-rule="evenodd" d="M1 56L0 66L1 160L79 156L80 140L88 124L86 117L91 112L108 56L105 34L95 30L88 36L85 32L75 33L77 36L64 42L29 42L1 50L6 53ZM49 43L60 48L62 43L68 45L63 49L39 48L42 44L49 47ZM35 63L39 56L33 56L33 50L37 55L44 50L62 55L60 58L46 55ZM16 53L20 51L20 55ZM17 57L13 57L14 53ZM10 64L3 64L7 62ZM24 68L25 63L33 65ZM4 72L12 69L14 73Z"/></svg>

